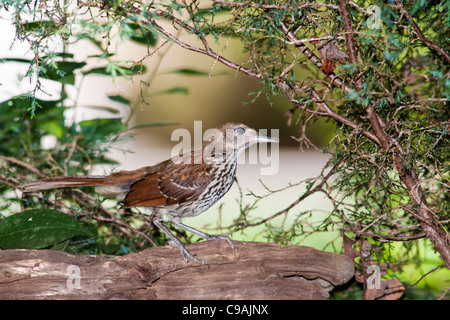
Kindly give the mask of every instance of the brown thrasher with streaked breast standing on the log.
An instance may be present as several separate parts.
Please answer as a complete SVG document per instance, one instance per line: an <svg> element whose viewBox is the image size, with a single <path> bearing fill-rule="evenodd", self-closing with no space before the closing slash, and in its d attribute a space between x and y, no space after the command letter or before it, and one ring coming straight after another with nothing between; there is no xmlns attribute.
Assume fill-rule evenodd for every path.
<svg viewBox="0 0 450 320"><path fill-rule="evenodd" d="M24 183L19 189L29 193L93 186L96 193L122 202L122 208L152 207L152 222L180 249L186 263L189 258L206 264L186 249L163 223L163 216L168 215L172 226L206 240L226 240L237 250L228 236L209 235L181 223L181 219L203 213L228 192L235 181L240 153L250 145L272 142L279 141L277 138L259 134L245 124L228 122L210 129L201 148L175 155L153 166L119 171L109 176L45 178Z"/></svg>

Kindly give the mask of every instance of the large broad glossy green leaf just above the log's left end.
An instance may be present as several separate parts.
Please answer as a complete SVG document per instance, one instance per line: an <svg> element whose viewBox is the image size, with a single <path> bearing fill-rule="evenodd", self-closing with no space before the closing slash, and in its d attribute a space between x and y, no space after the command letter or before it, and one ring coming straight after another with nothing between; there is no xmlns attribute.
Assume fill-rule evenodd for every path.
<svg viewBox="0 0 450 320"><path fill-rule="evenodd" d="M32 209L0 222L0 248L40 249L76 236L94 237L75 217L57 210Z"/></svg>

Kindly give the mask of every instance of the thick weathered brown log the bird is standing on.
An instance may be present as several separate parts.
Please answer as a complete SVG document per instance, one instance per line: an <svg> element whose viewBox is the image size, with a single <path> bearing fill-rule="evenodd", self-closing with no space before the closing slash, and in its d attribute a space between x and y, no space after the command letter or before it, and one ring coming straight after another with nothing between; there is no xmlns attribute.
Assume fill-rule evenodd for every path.
<svg viewBox="0 0 450 320"><path fill-rule="evenodd" d="M0 299L326 299L353 261L309 247L222 241L188 245L185 263L164 246L120 257L52 250L0 251Z"/></svg>

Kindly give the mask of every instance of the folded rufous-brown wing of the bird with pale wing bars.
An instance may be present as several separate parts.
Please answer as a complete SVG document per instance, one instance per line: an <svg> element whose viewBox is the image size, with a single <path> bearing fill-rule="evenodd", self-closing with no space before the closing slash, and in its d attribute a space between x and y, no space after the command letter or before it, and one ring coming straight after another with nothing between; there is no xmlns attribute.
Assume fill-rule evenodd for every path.
<svg viewBox="0 0 450 320"><path fill-rule="evenodd" d="M209 166L167 160L130 185L124 207L159 206L197 198L211 181Z"/></svg>

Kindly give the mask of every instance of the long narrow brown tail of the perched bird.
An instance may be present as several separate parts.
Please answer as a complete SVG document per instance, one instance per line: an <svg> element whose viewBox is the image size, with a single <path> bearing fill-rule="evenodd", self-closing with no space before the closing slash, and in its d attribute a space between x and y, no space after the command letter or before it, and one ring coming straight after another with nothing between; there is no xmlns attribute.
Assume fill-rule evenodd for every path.
<svg viewBox="0 0 450 320"><path fill-rule="evenodd" d="M55 177L24 183L19 186L19 189L23 192L33 192L59 188L105 186L109 182L108 177Z"/></svg>

